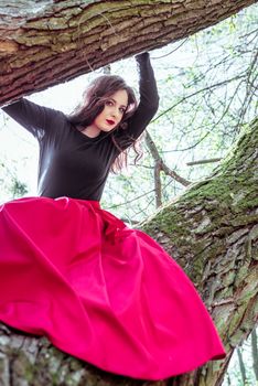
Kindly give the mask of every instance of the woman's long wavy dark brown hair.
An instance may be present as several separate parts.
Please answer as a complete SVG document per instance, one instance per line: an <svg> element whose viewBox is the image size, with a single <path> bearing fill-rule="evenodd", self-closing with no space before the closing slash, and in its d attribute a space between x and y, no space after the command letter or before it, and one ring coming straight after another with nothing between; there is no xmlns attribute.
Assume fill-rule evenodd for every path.
<svg viewBox="0 0 258 386"><path fill-rule="evenodd" d="M118 129L126 130L128 119L137 109L137 99L133 89L129 87L120 76L101 75L90 83L83 94L82 103L68 116L69 122L78 130L83 130L85 127L92 125L95 118L104 110L105 104L109 97L120 89L127 92L128 105L120 124L110 132L111 140L119 150L119 156L115 159L111 165L112 172L118 172L127 165L128 149L123 150L119 147L114 132ZM136 161L141 157L141 151L139 150L137 142L137 140L131 141L131 147L136 152Z"/></svg>

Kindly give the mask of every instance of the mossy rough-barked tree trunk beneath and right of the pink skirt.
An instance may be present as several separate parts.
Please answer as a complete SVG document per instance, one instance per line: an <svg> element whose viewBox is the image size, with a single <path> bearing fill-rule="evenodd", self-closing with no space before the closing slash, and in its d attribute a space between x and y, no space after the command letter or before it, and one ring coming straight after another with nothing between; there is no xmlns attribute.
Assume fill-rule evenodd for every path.
<svg viewBox="0 0 258 386"><path fill-rule="evenodd" d="M193 280L227 351L225 361L152 383L155 386L221 386L234 349L257 322L257 171L258 120L209 179L191 185L141 226ZM100 372L61 353L46 339L25 336L0 324L0 385L135 386L146 383Z"/></svg>

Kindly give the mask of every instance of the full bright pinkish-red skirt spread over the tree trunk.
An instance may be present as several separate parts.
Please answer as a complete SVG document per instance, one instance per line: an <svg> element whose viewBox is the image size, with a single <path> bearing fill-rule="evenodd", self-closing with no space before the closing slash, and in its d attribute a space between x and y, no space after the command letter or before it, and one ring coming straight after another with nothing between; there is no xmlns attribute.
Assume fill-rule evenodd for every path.
<svg viewBox="0 0 258 386"><path fill-rule="evenodd" d="M0 321L133 378L162 379L225 356L179 265L92 201L0 206Z"/></svg>

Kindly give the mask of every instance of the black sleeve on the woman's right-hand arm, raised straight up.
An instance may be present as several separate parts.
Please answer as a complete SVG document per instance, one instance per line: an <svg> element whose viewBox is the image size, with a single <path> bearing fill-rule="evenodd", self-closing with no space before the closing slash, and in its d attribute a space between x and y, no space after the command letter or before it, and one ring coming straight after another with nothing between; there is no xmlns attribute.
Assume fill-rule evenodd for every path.
<svg viewBox="0 0 258 386"><path fill-rule="evenodd" d="M128 148L146 129L159 108L159 94L153 68L148 52L137 55L136 61L139 71L140 103L128 127L118 133L119 146Z"/></svg>

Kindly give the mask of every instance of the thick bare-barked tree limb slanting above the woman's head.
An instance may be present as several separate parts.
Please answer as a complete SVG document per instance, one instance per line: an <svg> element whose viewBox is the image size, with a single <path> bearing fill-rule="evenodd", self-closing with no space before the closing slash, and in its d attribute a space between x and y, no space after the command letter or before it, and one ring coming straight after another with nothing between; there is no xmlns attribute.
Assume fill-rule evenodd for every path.
<svg viewBox="0 0 258 386"><path fill-rule="evenodd" d="M257 0L0 0L0 105L164 46Z"/></svg>

